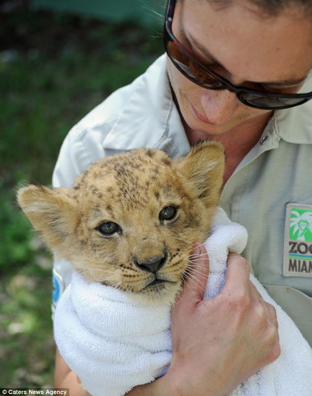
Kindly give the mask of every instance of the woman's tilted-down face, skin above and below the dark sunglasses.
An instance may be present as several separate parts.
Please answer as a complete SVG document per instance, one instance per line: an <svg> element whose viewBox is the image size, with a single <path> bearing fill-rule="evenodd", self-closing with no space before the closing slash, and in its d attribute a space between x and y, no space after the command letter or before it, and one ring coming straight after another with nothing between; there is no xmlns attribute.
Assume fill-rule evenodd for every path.
<svg viewBox="0 0 312 396"><path fill-rule="evenodd" d="M264 17L248 1L218 9L208 0L177 1L172 31L202 64L234 85L298 91L312 69L312 22L300 10ZM248 107L234 93L197 86L168 59L168 74L187 125L218 135L263 122L271 112ZM256 83L256 84L255 84Z"/></svg>

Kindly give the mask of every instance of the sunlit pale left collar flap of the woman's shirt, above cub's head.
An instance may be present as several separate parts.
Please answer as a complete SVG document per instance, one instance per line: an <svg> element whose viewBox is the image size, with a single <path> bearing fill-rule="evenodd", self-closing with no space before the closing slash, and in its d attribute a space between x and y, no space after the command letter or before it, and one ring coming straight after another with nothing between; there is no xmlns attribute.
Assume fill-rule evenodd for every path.
<svg viewBox="0 0 312 396"><path fill-rule="evenodd" d="M138 147L165 150L176 158L189 144L172 99L163 54L133 83L127 104L103 141L105 149L127 151Z"/></svg>

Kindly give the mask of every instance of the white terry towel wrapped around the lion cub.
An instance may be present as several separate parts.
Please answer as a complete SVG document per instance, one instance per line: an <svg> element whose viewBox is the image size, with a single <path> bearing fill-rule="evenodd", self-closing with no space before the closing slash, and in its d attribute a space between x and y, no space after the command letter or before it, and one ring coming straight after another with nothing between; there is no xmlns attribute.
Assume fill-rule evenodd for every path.
<svg viewBox="0 0 312 396"><path fill-rule="evenodd" d="M228 252L241 253L246 243L247 231L219 210L205 242L210 258L205 298L222 290ZM312 349L259 282L250 279L277 309L281 356L231 395L311 396ZM94 396L124 395L163 375L171 360L170 306L134 302L76 272L58 303L54 335L62 357Z"/></svg>

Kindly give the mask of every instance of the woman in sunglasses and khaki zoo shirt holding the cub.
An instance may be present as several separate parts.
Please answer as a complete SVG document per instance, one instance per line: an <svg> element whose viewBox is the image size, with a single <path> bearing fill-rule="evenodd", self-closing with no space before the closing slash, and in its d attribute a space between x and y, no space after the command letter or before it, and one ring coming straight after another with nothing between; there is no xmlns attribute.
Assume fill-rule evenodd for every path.
<svg viewBox="0 0 312 396"><path fill-rule="evenodd" d="M200 285L189 285L174 306L167 374L129 395L226 395L278 358L276 313L250 283L249 262L309 336L312 278L289 261L284 229L293 202L312 211L304 174L312 165L312 102L304 104L312 98L311 15L312 1L303 0L169 1L167 57L95 108L63 143L55 187L105 155L146 146L178 157L199 140L220 141L227 157L220 204L249 231L244 258L229 256L220 295L202 301ZM207 276L208 260L198 265ZM61 268L55 263L62 289ZM55 383L85 394L58 352Z"/></svg>

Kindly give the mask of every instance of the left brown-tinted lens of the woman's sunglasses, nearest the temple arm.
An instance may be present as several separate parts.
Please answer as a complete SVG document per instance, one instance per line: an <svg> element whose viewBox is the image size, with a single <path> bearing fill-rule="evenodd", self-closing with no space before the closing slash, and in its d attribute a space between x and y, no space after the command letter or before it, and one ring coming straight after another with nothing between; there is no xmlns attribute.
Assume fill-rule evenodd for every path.
<svg viewBox="0 0 312 396"><path fill-rule="evenodd" d="M202 68L196 61L192 60L186 53L172 41L166 43L167 53L173 64L191 81L204 88L218 89L222 87L216 78Z"/></svg>

